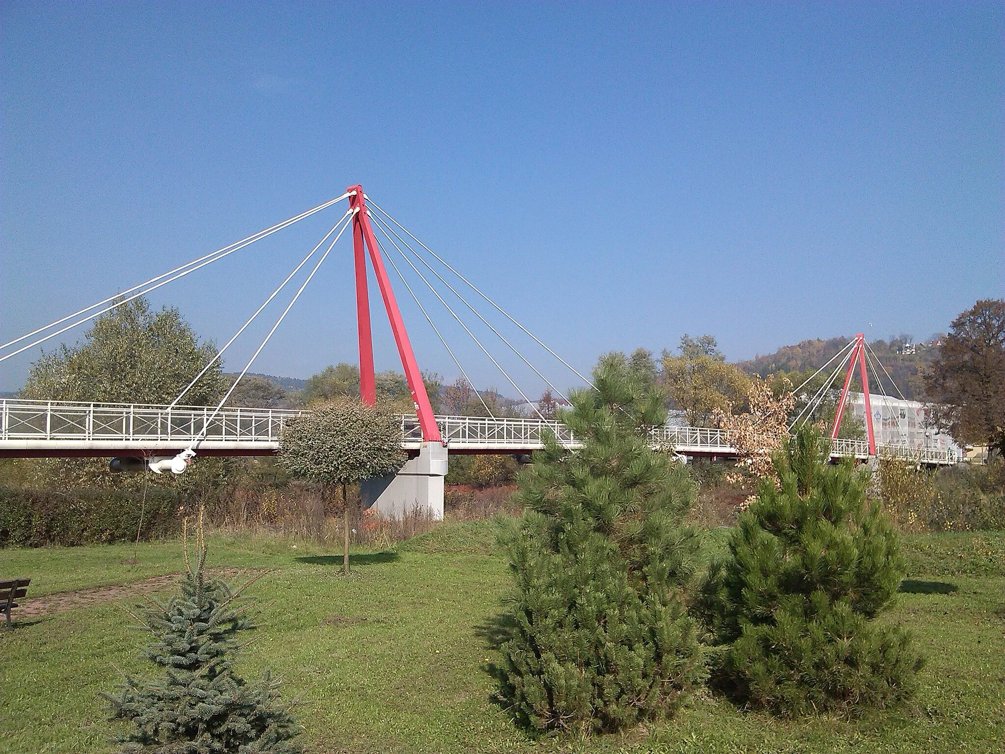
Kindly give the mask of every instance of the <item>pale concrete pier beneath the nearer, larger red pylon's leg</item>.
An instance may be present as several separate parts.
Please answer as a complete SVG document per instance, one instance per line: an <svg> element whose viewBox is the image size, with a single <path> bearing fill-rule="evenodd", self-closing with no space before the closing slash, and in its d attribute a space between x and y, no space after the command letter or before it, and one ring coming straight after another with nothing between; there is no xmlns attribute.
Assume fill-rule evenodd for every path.
<svg viewBox="0 0 1005 754"><path fill-rule="evenodd" d="M446 467L446 446L423 442L419 454L409 458L397 474L364 480L360 485L363 508L376 506L386 519L400 519L418 510L433 521L442 521Z"/></svg>

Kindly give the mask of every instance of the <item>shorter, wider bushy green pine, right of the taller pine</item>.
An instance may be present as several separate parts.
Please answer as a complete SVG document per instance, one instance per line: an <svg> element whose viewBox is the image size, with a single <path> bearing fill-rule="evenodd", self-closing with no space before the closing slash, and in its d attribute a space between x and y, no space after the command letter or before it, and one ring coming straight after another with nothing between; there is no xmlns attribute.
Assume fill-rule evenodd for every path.
<svg viewBox="0 0 1005 754"><path fill-rule="evenodd" d="M811 427L775 457L714 563L698 611L724 644L714 685L783 716L885 707L910 697L922 658L873 622L903 576L896 532L865 498L867 474L827 463Z"/></svg>

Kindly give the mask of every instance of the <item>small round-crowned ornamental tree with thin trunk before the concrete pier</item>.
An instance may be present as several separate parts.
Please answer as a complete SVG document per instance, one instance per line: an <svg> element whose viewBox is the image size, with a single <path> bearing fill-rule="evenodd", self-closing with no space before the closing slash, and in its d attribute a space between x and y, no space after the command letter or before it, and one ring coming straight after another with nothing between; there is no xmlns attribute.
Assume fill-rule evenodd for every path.
<svg viewBox="0 0 1005 754"><path fill-rule="evenodd" d="M365 405L338 398L288 421L279 438L279 463L293 477L340 485L344 507L343 568L349 573L349 496L347 485L385 477L401 468L397 414L384 404Z"/></svg>

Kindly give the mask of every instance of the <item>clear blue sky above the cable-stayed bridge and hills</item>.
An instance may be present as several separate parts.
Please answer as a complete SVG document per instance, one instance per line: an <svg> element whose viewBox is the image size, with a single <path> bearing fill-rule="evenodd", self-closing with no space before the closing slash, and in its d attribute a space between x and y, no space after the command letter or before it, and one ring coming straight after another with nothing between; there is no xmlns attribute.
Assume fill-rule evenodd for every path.
<svg viewBox="0 0 1005 754"><path fill-rule="evenodd" d="M861 331L922 338L1005 294L999 4L0 14L3 342L355 183L581 371L683 333L715 335L732 359ZM151 298L222 344L338 214ZM420 365L452 379L396 290ZM400 368L375 288L371 300L378 368ZM514 394L422 300L475 382ZM37 353L0 364L0 390ZM356 359L344 239L253 371L306 377Z"/></svg>

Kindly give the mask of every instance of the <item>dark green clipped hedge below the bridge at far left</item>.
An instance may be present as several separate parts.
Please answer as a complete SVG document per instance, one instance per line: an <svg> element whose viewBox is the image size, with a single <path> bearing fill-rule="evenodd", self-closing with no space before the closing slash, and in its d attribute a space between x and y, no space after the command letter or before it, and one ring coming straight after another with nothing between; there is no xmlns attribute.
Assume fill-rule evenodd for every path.
<svg viewBox="0 0 1005 754"><path fill-rule="evenodd" d="M174 534L181 500L171 490L56 493L0 487L0 546L41 547L126 542Z"/></svg>

